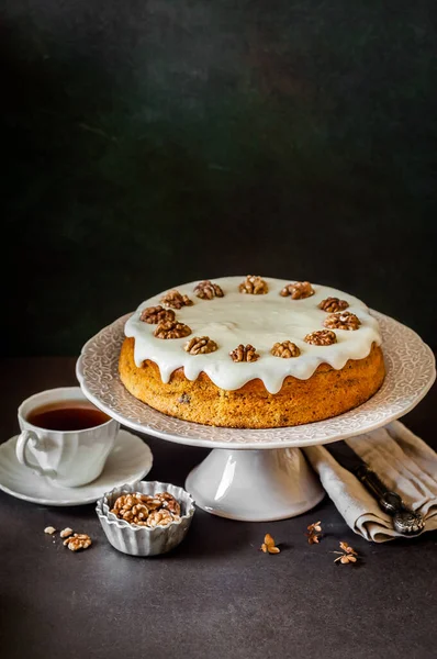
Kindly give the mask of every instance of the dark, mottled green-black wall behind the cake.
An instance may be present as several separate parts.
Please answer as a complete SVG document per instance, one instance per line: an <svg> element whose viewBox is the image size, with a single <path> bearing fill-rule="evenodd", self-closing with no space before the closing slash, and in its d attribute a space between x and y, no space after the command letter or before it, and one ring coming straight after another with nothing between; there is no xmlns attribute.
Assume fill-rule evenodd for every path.
<svg viewBox="0 0 437 659"><path fill-rule="evenodd" d="M437 347L434 0L1 7L3 351L247 272Z"/></svg>

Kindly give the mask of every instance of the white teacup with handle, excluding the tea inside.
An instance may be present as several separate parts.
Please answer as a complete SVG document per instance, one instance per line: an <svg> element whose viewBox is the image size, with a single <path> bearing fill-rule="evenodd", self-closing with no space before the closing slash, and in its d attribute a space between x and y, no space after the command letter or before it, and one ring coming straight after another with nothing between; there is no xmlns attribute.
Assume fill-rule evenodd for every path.
<svg viewBox="0 0 437 659"><path fill-rule="evenodd" d="M18 460L54 484L76 488L98 478L111 453L120 424L110 418L94 427L80 431L54 431L37 427L27 421L38 407L67 401L89 403L79 387L42 391L21 403L19 423L22 431L16 440Z"/></svg>

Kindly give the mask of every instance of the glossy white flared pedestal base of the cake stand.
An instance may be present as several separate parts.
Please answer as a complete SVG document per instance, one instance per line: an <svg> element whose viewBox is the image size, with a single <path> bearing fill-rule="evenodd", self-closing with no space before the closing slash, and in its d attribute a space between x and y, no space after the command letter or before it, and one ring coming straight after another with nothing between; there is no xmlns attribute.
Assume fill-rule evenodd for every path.
<svg viewBox="0 0 437 659"><path fill-rule="evenodd" d="M215 448L189 473L186 489L204 511L243 522L294 517L325 495L299 448Z"/></svg>

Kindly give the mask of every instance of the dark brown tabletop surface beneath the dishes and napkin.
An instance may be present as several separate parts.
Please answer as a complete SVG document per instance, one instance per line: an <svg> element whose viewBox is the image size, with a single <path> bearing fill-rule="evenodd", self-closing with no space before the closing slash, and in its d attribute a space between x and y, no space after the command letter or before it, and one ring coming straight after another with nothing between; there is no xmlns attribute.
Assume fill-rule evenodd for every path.
<svg viewBox="0 0 437 659"><path fill-rule="evenodd" d="M74 358L1 362L1 439L18 429L27 395L75 383ZM437 389L405 417L436 443ZM204 449L147 437L148 478L183 484ZM311 522L326 533L306 543ZM437 534L369 544L328 499L274 523L240 523L198 511L171 555L138 559L108 544L92 505L56 509L0 492L1 659L266 659L436 656ZM92 536L72 554L43 533L67 525ZM259 551L265 533L282 545ZM338 540L362 556L334 565Z"/></svg>

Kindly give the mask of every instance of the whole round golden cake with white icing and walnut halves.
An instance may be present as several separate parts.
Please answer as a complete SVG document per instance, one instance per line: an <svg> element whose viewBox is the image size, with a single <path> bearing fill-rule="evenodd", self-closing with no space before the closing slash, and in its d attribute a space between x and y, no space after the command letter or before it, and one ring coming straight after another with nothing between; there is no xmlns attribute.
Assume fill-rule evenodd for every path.
<svg viewBox="0 0 437 659"><path fill-rule="evenodd" d="M152 407L236 428L343 414L381 387L378 321L348 293L256 276L191 282L125 324L120 377Z"/></svg>

